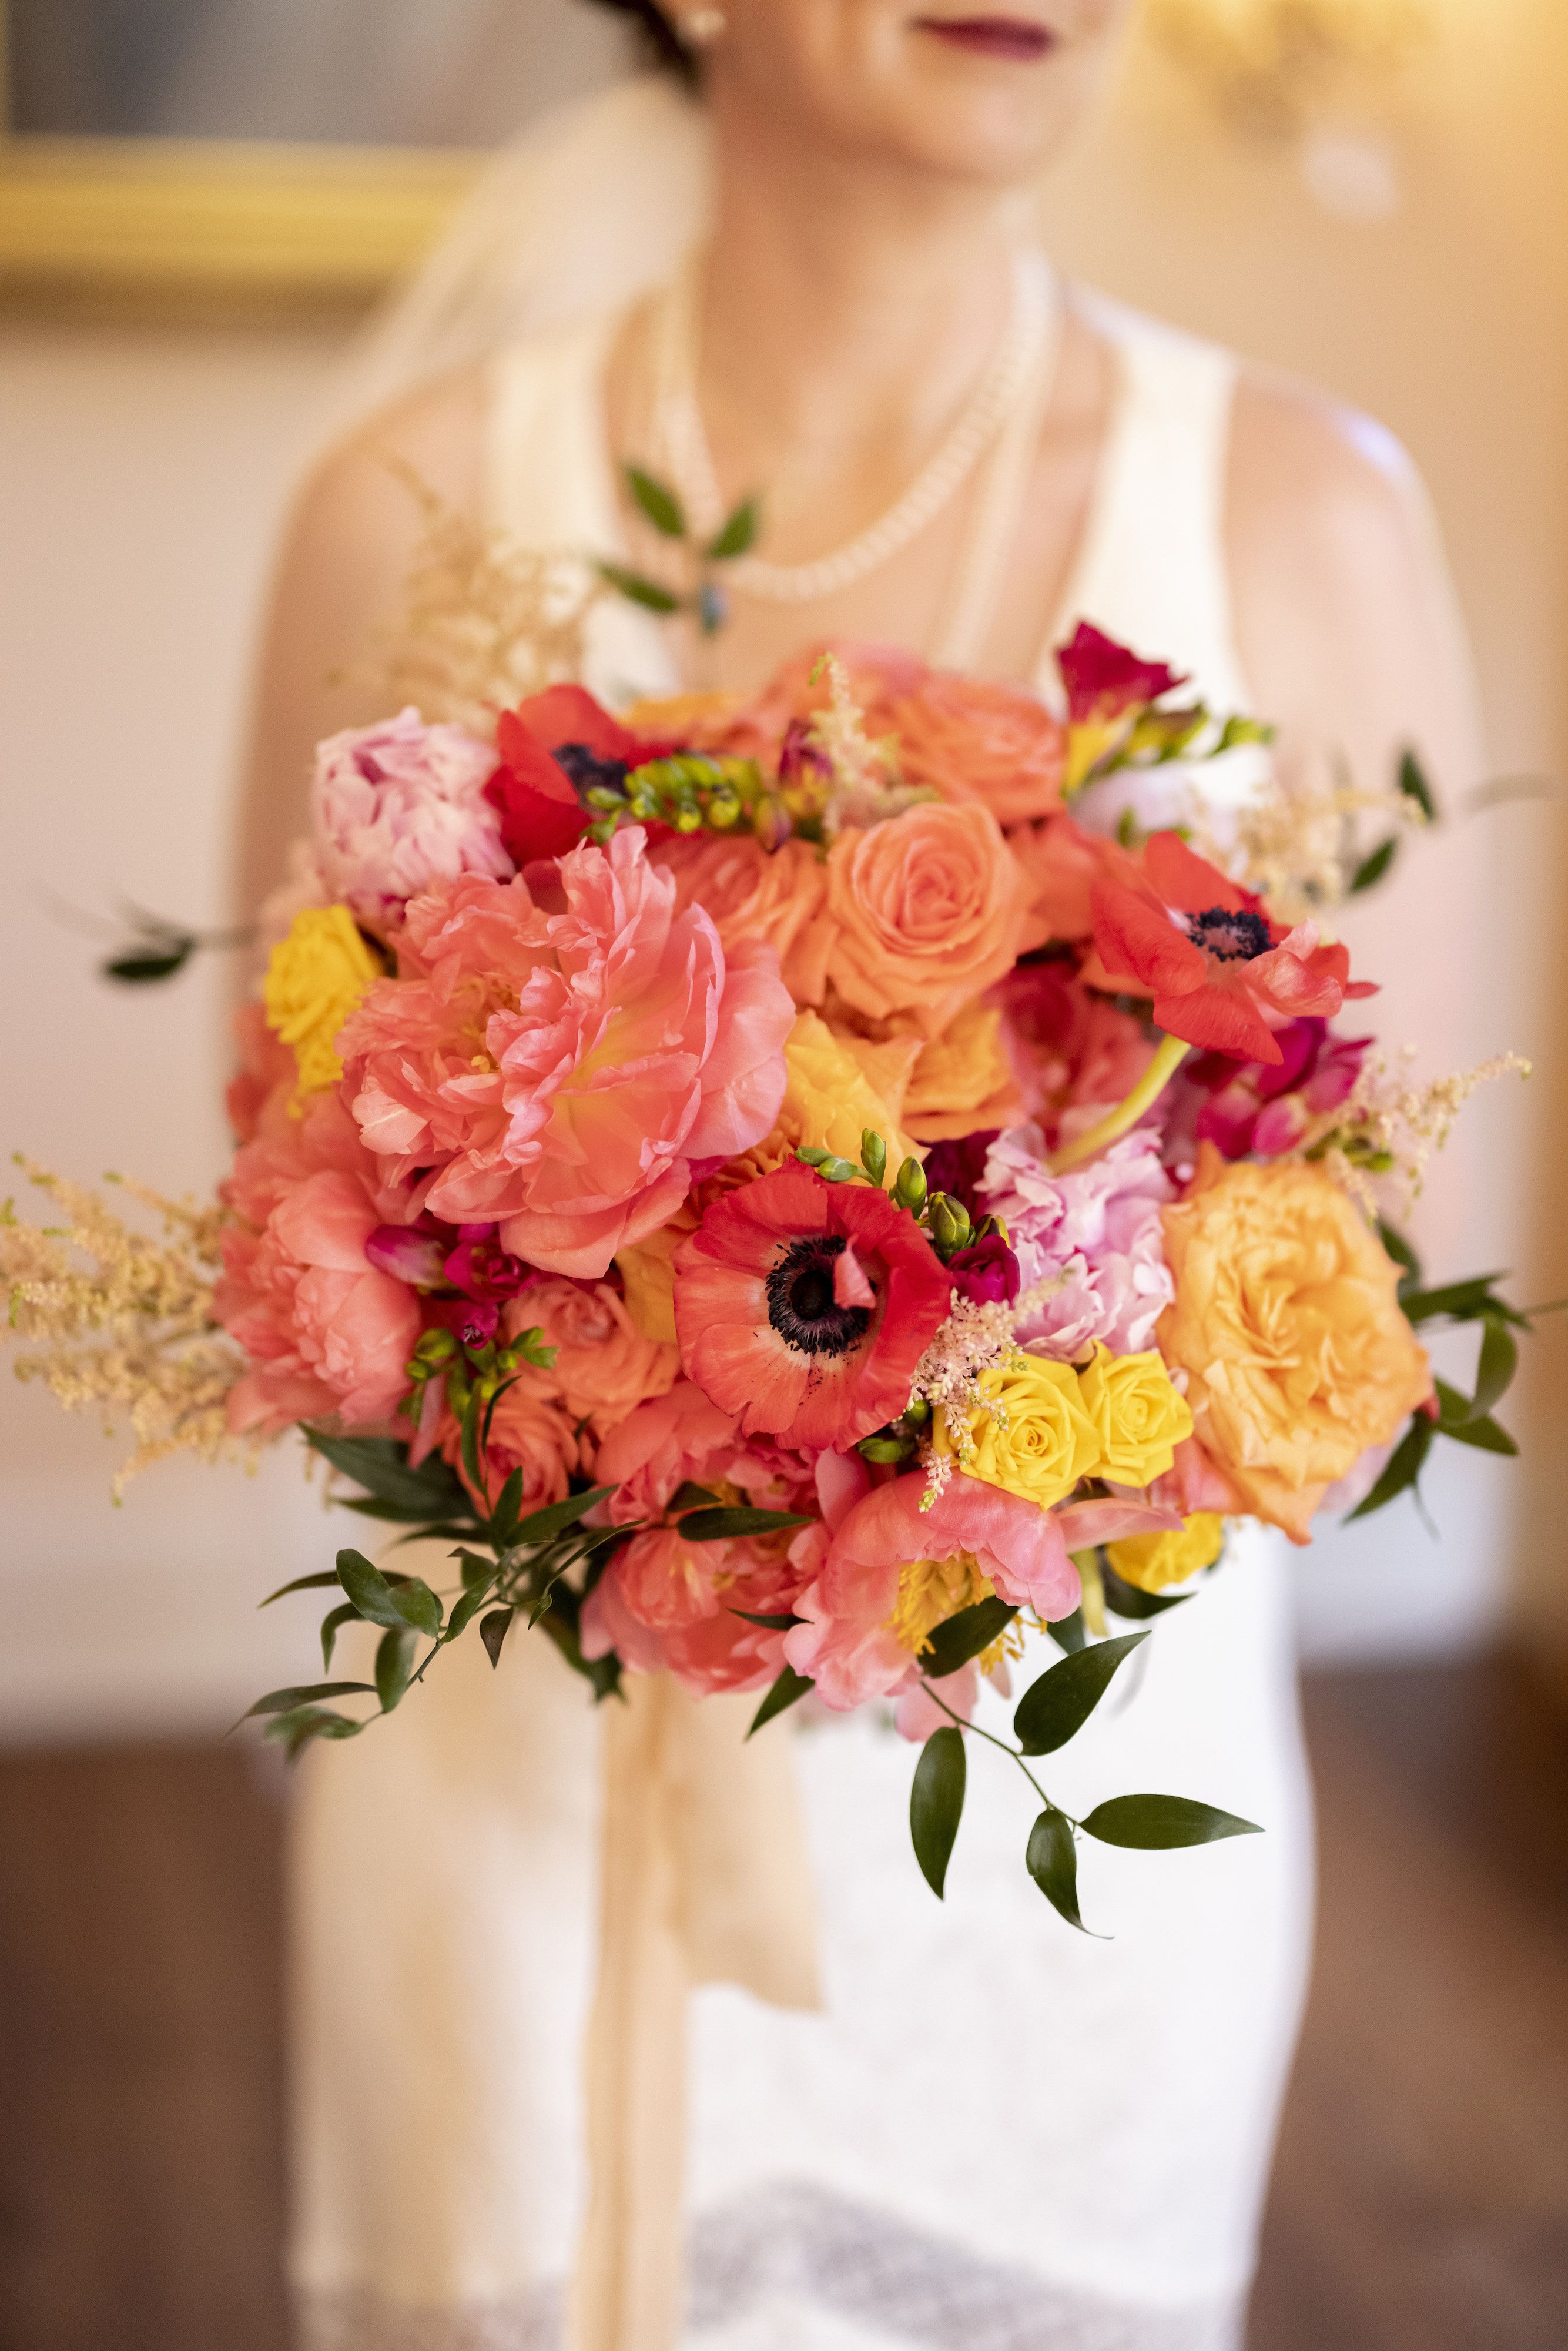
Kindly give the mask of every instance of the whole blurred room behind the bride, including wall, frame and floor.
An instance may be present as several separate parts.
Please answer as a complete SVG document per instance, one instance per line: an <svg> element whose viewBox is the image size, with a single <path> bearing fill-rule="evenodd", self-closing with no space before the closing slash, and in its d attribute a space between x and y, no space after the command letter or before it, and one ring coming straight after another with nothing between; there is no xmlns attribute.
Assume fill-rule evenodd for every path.
<svg viewBox="0 0 1568 2351"><path fill-rule="evenodd" d="M630 61L576 0L0 19L0 1140L202 1192L230 973L115 992L82 917L226 919L273 534L364 306L484 148ZM1041 193L1070 273L1328 386L1432 487L1519 783L1474 820L1467 1058L1535 1063L1472 1107L1439 1227L1521 1302L1568 1291L1566 94L1561 0L1147 0ZM294 259L256 259L256 188ZM1258 2351L1568 2339L1566 1321L1521 1465L1446 1460L1439 1540L1399 1505L1300 1566L1324 1925ZM254 1603L320 1502L277 1458L110 1509L115 1460L0 1382L0 2351L282 2351L284 1794L216 1742L310 1672L310 1620Z"/></svg>

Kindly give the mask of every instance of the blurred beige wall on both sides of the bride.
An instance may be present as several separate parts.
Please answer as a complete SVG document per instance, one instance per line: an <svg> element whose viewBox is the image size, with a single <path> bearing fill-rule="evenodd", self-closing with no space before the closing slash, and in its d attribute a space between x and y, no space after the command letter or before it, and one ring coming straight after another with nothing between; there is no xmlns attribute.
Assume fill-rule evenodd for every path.
<svg viewBox="0 0 1568 2351"><path fill-rule="evenodd" d="M1187 85L1135 66L1048 219L1084 277L1333 386L1415 451L1476 639L1497 769L1568 773L1568 92L1561 0L1441 0L1450 45L1410 96L1406 205L1326 219L1288 155L1237 143ZM106 1159L172 1190L209 1183L221 976L113 994L45 907L118 893L219 919L228 776L266 543L339 334L0 331L0 1143L92 1176ZM1561 823L1493 823L1497 962L1481 1027L1542 1060L1528 1096L1472 1112L1488 1150L1563 1138L1556 1051ZM1537 1161L1544 1168L1544 1157ZM1472 1183L1474 1192L1476 1185ZM1509 1248L1507 1185L1476 1244ZM1521 1284L1568 1291L1544 1176ZM1497 1262L1497 1260L1493 1260ZM1561 1324L1535 1364L1530 1531L1519 1589L1568 1634L1549 1396ZM277 1460L259 1486L165 1469L106 1502L113 1448L0 1385L0 1730L221 1723L308 1669L308 1613L252 1608L315 1559L324 1528ZM1319 1646L1441 1646L1486 1629L1521 1474L1453 1462L1429 1547L1413 1519L1305 1573ZM308 1547L308 1552L306 1552ZM158 1610L174 1610L169 1639Z"/></svg>

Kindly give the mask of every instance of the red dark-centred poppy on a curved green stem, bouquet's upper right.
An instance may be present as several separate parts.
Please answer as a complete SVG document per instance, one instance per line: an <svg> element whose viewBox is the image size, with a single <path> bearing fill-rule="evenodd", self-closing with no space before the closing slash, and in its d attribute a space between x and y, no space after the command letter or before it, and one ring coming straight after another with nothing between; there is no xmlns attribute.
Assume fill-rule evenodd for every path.
<svg viewBox="0 0 1568 2351"><path fill-rule="evenodd" d="M1168 1037L1229 1053L1281 1060L1269 1018L1333 1018L1352 983L1349 952L1321 947L1314 922L1284 931L1262 898L1194 856L1175 832L1157 832L1133 884L1100 879L1091 891L1095 950L1105 978L1154 997Z"/></svg>

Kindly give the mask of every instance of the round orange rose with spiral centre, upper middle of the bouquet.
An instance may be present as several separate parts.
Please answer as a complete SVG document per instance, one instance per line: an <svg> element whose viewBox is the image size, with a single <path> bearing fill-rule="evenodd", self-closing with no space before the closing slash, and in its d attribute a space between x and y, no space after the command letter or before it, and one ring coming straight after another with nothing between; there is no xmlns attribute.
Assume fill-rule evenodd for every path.
<svg viewBox="0 0 1568 2351"><path fill-rule="evenodd" d="M1018 868L990 809L922 802L886 825L846 825L827 853L839 926L827 980L870 1020L910 1016L926 1037L1013 969Z"/></svg>

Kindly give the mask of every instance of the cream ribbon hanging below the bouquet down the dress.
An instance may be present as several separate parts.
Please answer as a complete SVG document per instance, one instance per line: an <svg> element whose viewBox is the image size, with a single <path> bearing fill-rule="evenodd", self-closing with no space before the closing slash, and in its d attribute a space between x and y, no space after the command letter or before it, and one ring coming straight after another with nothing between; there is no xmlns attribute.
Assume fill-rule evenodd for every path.
<svg viewBox="0 0 1568 2351"><path fill-rule="evenodd" d="M588 2022L588 2219L571 2351L675 2351L682 2325L686 1996L743 1984L818 2008L816 1890L792 1733L750 1697L628 1674L604 1704L599 1982Z"/></svg>

